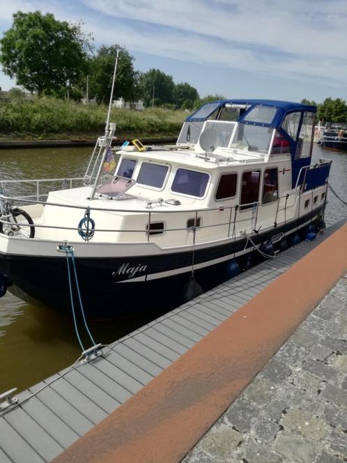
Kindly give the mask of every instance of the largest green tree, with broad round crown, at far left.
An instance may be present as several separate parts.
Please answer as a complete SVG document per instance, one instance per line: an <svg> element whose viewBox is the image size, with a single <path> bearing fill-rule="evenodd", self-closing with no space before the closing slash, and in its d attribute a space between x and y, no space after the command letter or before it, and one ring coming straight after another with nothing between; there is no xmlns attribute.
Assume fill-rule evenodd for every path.
<svg viewBox="0 0 347 463"><path fill-rule="evenodd" d="M41 95L79 82L90 42L80 24L57 21L51 13L17 11L0 47L3 72Z"/></svg>

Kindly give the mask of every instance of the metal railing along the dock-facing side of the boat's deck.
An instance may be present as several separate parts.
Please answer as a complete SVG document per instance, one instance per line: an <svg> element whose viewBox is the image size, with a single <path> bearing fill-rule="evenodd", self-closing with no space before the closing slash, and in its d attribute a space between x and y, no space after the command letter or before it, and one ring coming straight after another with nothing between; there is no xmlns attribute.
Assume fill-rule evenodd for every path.
<svg viewBox="0 0 347 463"><path fill-rule="evenodd" d="M80 180L80 179L70 179L71 181L73 180ZM284 211L284 218L286 219L286 214L288 211L295 206L295 200L290 201L291 197L293 197L294 193L288 193L282 197L278 197L272 204L276 206L276 212L275 212L275 227L277 227L277 218L279 213ZM210 208L194 208L194 209L184 209L182 210L181 208L174 210L165 210L163 211L162 208L160 210L155 210L151 206L151 208L146 209L119 209L119 208L98 208L98 207L88 207L86 208L85 206L77 206L77 205L71 205L71 204L59 204L59 203L54 203L54 202L45 202L45 201L40 201L40 199L28 199L27 197L10 197L6 195L0 195L0 202L5 202L5 203L10 203L10 204L26 204L26 205L36 205L36 204L42 204L43 206L56 206L59 208L73 208L73 209L78 209L84 212L84 215L86 216L86 211L88 211L88 218L91 218L93 215L93 212L95 211L102 211L102 212L115 212L115 213L142 213L142 214L147 214L147 221L146 221L146 229L141 228L141 229L113 229L113 228L107 228L107 229L102 229L102 228L97 228L93 227L93 232L98 232L98 233L120 233L120 234L129 234L129 233L134 233L134 234L145 234L144 239L142 239L140 242L143 243L144 241L150 242L151 241L151 236L156 236L158 231L155 229L151 229L151 225L154 222L157 222L157 217L160 215L161 220L163 214L192 214L194 215L194 222L193 225L190 227L166 227L162 230L161 232L190 232L192 231L194 234L194 241L195 241L195 234L198 230L203 230L203 229L212 229L212 228L217 228L217 227L227 227L227 232L223 234L223 236L219 236L220 239L223 238L233 238L236 235L236 229L240 232L240 229L244 227L245 232L247 229L247 233L249 234L257 234L259 232L259 211L261 210L261 206L263 205L263 202L252 202L248 204L239 204L239 205L234 205L234 206L216 206L216 207L210 207ZM268 204L266 204L268 206ZM227 215L224 214L224 220L221 220L220 222L215 222L215 223L209 223L209 224L199 224L199 216L202 214L210 213L210 212L224 212L224 211L229 211ZM249 211L249 214L244 214L246 211ZM288 218L288 217L287 217ZM0 222L3 225L13 225L13 222L10 222L10 220L6 220L8 217L0 217ZM285 221L285 220L284 220ZM30 224L21 224L20 222L17 222L18 226L23 225L25 227L37 227L37 228L43 228L43 229L61 229L61 230L72 230L75 232L86 232L86 227L67 227L67 226L59 226L59 225L49 225L49 224L43 224L43 223L38 223L35 222L33 225ZM88 227L87 227L88 228ZM86 241L90 241L88 239L88 233L86 234L87 238ZM156 240L155 240L156 241ZM213 241L213 240L211 240ZM197 243L196 243L197 244ZM201 242L199 241L199 244Z"/></svg>

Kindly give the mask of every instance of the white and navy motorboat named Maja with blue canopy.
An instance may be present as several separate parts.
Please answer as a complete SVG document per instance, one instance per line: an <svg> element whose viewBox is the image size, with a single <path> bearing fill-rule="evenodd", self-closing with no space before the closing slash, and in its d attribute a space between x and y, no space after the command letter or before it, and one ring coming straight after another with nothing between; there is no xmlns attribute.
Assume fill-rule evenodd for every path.
<svg viewBox="0 0 347 463"><path fill-rule="evenodd" d="M0 294L128 317L313 236L331 164L311 164L315 113L217 100L185 119L174 145L118 149L109 123L83 179L1 181Z"/></svg>

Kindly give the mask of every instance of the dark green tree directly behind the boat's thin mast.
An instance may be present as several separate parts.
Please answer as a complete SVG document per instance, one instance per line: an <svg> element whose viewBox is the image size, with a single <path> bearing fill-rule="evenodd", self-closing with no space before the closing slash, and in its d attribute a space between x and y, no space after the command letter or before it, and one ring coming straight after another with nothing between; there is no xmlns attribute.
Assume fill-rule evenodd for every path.
<svg viewBox="0 0 347 463"><path fill-rule="evenodd" d="M125 47L102 45L89 62L88 70L89 96L96 98L98 103L109 101L117 50L119 50L119 56L113 98L123 97L125 101L135 101L139 98L139 73L134 70L133 56Z"/></svg>

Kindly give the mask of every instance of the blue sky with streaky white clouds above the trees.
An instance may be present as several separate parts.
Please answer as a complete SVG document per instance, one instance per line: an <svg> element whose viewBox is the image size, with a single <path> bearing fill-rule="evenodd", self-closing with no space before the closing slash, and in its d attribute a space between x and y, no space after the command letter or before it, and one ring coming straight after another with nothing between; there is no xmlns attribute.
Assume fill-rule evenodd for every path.
<svg viewBox="0 0 347 463"><path fill-rule="evenodd" d="M346 0L0 0L0 37L17 10L82 21L200 96L347 100ZM1 70L0 86L15 86Z"/></svg>

